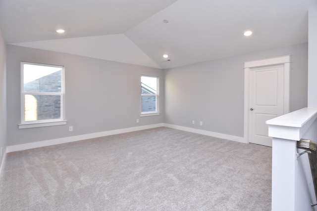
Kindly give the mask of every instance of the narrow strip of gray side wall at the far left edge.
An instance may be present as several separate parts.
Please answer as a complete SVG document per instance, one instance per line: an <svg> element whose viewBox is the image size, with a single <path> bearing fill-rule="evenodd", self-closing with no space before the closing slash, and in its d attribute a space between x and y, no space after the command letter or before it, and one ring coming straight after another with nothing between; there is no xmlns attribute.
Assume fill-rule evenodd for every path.
<svg viewBox="0 0 317 211"><path fill-rule="evenodd" d="M5 43L0 28L0 148L2 148L2 156L0 157L0 165L2 163L4 150L6 147L6 83L5 83Z"/></svg>

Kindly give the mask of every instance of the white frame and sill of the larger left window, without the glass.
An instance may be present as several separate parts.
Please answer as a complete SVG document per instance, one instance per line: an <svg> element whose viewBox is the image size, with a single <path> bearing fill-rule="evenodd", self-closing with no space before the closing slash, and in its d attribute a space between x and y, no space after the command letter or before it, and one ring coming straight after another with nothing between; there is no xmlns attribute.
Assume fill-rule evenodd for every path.
<svg viewBox="0 0 317 211"><path fill-rule="evenodd" d="M60 93L57 92L24 92L24 84L23 84L23 65L39 65L39 66L47 66L47 67L60 67L61 71L61 90ZM65 109L64 109L64 101L65 101L65 68L61 65L50 65L50 64L42 64L42 63L34 63L34 62L24 62L21 61L21 124L18 125L19 129L23 128L32 128L32 127L48 127L48 126L57 126L57 125L66 125L65 120ZM36 121L24 121L24 95L60 95L60 118L59 119L50 119L50 120L36 120Z"/></svg>

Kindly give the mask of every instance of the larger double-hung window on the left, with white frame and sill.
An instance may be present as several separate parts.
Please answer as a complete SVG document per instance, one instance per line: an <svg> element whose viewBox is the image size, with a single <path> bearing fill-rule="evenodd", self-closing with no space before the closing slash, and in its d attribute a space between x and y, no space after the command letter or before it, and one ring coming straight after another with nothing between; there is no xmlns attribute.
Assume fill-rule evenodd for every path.
<svg viewBox="0 0 317 211"><path fill-rule="evenodd" d="M21 62L19 128L65 124L64 67Z"/></svg>

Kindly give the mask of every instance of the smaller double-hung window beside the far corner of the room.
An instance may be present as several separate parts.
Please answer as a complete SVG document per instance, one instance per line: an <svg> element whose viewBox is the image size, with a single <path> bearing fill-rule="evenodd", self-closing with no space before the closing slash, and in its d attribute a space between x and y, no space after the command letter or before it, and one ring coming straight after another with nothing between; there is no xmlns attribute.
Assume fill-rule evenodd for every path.
<svg viewBox="0 0 317 211"><path fill-rule="evenodd" d="M141 116L159 115L159 78L141 76Z"/></svg>

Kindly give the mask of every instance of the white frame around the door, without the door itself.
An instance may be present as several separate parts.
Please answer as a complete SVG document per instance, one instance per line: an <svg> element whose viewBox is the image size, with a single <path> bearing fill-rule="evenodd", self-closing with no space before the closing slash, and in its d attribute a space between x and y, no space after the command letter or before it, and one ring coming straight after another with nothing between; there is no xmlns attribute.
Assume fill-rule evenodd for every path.
<svg viewBox="0 0 317 211"><path fill-rule="evenodd" d="M274 58L260 59L255 61L244 62L244 124L243 136L246 143L249 143L250 129L250 71L255 67L264 67L271 65L284 66L284 108L283 114L289 113L289 89L290 89L290 62L291 56L280 56Z"/></svg>

